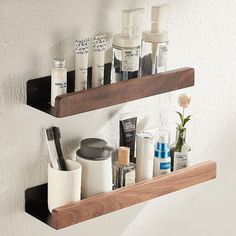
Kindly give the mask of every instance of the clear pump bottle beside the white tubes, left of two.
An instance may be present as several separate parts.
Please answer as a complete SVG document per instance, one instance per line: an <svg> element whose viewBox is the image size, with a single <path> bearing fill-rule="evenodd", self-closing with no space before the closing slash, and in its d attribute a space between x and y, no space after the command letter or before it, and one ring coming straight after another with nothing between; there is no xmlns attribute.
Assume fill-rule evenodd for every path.
<svg viewBox="0 0 236 236"><path fill-rule="evenodd" d="M134 16L143 12L143 8L123 11L122 33L113 36L111 83L138 77L141 38L135 35L133 26Z"/></svg>

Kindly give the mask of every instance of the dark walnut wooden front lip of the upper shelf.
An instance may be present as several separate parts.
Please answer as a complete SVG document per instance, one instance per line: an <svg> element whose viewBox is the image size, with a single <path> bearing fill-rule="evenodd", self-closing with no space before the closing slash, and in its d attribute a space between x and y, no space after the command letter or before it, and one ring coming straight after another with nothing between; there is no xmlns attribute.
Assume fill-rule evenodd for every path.
<svg viewBox="0 0 236 236"><path fill-rule="evenodd" d="M181 68L58 96L56 117L66 117L194 85L194 69Z"/></svg>

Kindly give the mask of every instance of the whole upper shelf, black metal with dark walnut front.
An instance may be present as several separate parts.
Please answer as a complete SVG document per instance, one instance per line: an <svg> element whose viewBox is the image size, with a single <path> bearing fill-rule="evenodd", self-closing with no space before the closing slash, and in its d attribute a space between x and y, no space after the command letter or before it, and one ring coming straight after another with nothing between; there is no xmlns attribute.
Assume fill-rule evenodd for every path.
<svg viewBox="0 0 236 236"><path fill-rule="evenodd" d="M110 66L107 64L105 73L109 69ZM55 108L49 104L51 77L29 80L27 82L27 104L55 117L71 116L193 86L194 69L182 68L79 92L73 92L73 71L68 73L67 79L68 93L56 98Z"/></svg>

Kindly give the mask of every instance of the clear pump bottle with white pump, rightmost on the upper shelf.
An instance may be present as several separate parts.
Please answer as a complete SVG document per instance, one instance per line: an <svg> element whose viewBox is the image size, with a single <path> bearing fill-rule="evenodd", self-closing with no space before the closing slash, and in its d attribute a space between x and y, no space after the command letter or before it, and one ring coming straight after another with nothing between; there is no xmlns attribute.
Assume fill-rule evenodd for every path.
<svg viewBox="0 0 236 236"><path fill-rule="evenodd" d="M151 31L142 33L142 76L166 71L168 32L160 27L161 9L165 6L167 5L152 7Z"/></svg>

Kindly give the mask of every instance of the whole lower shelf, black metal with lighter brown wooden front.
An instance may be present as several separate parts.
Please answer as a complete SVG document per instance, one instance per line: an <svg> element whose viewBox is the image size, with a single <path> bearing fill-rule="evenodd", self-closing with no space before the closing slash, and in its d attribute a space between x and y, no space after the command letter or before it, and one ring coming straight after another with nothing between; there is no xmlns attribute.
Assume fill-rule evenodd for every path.
<svg viewBox="0 0 236 236"><path fill-rule="evenodd" d="M216 162L206 161L56 208L52 214L47 208L47 184L44 184L25 191L25 211L55 229L62 229L214 178Z"/></svg>

